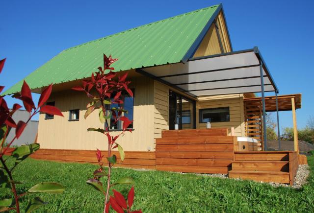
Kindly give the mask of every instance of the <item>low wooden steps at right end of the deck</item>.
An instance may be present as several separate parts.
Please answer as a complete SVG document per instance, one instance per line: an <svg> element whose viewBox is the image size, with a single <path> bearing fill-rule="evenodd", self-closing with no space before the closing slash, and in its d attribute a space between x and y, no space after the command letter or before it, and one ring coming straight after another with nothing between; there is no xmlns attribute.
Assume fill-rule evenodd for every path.
<svg viewBox="0 0 314 213"><path fill-rule="evenodd" d="M297 169L296 152L235 152L229 177L292 185Z"/></svg>

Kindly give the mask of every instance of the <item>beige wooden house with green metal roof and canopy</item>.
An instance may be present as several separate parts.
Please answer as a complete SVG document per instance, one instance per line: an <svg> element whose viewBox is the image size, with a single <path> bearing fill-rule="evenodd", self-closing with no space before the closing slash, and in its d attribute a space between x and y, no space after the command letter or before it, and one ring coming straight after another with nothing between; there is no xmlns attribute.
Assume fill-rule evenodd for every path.
<svg viewBox="0 0 314 213"><path fill-rule="evenodd" d="M40 115L41 150L33 154L34 158L95 162L92 150L106 149L102 135L86 131L103 127L96 113L83 118L89 99L71 90L91 71L98 71L103 53L119 59L114 63L115 71L129 72L134 93L134 98L125 97L124 108L134 120L133 132L119 138L126 160L119 161L118 166L228 173L237 159L236 151L267 149L262 131L266 111L292 110L296 126L295 109L301 107L301 95L277 96L279 90L257 47L233 50L223 7L218 4L65 49L29 74L25 80L33 93L53 84L47 104L58 107L65 116ZM17 93L22 82L6 94ZM259 92L262 98L256 97ZM276 92L276 97L265 97L265 92ZM206 130L207 122L211 130ZM182 131L174 130L175 124ZM121 124L110 124L110 128L119 134ZM209 138L188 141L191 136L195 140ZM169 141L173 137L186 146L174 147L174 141ZM237 142L236 137L254 140ZM193 142L198 143L194 149L188 145ZM177 152L170 153L171 149ZM280 172L284 172L282 167L289 168L292 157L295 160L295 151L273 158L284 160L278 163L278 175L282 176L277 182L291 182L291 167L285 174ZM262 152L254 155L264 158ZM165 165L169 162L172 165Z"/></svg>

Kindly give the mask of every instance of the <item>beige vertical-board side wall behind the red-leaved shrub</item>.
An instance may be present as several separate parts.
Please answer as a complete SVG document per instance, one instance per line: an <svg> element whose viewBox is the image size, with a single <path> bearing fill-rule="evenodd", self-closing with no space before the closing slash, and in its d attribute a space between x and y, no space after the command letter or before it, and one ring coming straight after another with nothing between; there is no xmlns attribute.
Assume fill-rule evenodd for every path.
<svg viewBox="0 0 314 213"><path fill-rule="evenodd" d="M131 79L134 94L134 124L132 133L126 132L118 139L126 151L154 151L154 80L141 76ZM55 116L45 120L45 114L39 116L38 142L41 148L106 150L105 137L98 132L87 132L87 128L103 128L98 112L84 119L89 98L77 91L66 90L53 93L49 101L55 101L64 118ZM79 109L79 121L68 121L69 110ZM120 132L112 132L112 135Z"/></svg>

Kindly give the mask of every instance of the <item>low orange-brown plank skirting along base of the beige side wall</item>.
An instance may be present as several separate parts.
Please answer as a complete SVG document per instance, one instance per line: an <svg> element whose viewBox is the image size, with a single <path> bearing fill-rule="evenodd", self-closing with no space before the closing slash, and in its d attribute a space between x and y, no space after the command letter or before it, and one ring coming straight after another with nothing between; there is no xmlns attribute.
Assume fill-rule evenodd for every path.
<svg viewBox="0 0 314 213"><path fill-rule="evenodd" d="M98 162L95 152L96 151L94 150L39 149L31 155L31 158L61 162L97 164ZM125 160L123 162L121 161L119 152L114 151L112 154L117 156L117 164L115 166L147 169L156 168L155 152L126 151ZM102 163L107 163L105 157L102 159Z"/></svg>

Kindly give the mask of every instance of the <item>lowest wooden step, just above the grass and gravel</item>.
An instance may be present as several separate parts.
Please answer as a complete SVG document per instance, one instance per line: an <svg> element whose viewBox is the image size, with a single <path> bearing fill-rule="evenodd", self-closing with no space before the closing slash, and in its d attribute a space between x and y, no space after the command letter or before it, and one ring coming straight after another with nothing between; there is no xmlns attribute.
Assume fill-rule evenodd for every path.
<svg viewBox="0 0 314 213"><path fill-rule="evenodd" d="M229 178L289 184L289 172L231 170Z"/></svg>

